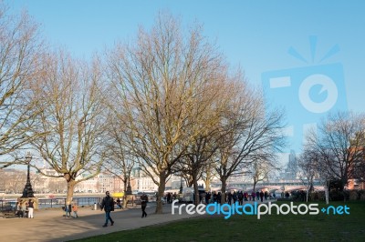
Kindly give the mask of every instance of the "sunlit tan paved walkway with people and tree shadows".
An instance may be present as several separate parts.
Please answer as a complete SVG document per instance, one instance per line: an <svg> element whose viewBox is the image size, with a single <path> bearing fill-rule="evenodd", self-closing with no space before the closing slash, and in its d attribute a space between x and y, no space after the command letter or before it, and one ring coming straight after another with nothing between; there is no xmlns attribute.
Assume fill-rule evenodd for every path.
<svg viewBox="0 0 365 242"><path fill-rule="evenodd" d="M141 218L141 206L116 210L111 213L115 222L112 227L102 227L105 213L90 207L79 208L78 218L63 217L65 212L60 208L35 211L35 218L0 217L0 241L68 241L193 217L172 215L170 204L163 206L162 215L154 214L154 210L147 207L145 218Z"/></svg>

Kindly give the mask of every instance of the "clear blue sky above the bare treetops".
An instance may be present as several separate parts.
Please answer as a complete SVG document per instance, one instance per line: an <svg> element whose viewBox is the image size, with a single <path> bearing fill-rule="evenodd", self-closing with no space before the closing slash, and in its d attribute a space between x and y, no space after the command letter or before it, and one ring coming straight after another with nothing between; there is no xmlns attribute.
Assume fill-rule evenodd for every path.
<svg viewBox="0 0 365 242"><path fill-rule="evenodd" d="M149 28L161 10L180 16L186 25L197 20L232 66L241 66L249 82L263 85L271 104L286 108L287 123L292 127L288 133L293 135L288 149L298 151L303 126L318 123L328 112L365 111L365 1L7 0L5 3L15 13L27 9L41 24L51 45L61 45L72 55L85 58L116 41L134 38L138 26ZM290 48L292 55L288 53ZM326 54L328 58L321 60ZM270 88L272 78L280 76L287 76L290 85ZM319 81L313 80L316 76ZM301 86L304 81L306 85ZM308 85L310 88L306 89ZM313 106L303 107L306 106L303 90L308 91L313 106L328 96L335 96L335 103L328 104L328 110L313 113Z"/></svg>

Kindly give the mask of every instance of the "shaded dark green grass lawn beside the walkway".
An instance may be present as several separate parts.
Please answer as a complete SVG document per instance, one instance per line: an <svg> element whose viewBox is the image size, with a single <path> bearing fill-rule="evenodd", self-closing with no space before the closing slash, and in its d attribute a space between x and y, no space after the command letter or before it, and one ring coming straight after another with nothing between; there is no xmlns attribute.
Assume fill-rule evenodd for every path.
<svg viewBox="0 0 365 242"><path fill-rule="evenodd" d="M349 215L204 216L76 241L365 241L365 202L346 205Z"/></svg>

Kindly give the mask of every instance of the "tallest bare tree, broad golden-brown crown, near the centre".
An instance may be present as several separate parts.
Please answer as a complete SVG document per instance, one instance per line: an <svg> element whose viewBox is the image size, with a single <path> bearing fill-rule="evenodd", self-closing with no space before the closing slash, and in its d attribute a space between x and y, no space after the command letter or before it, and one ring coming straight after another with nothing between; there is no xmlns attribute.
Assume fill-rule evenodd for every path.
<svg viewBox="0 0 365 242"><path fill-rule="evenodd" d="M198 121L202 130L214 125L209 113L214 93L203 96L203 91L218 81L217 73L225 67L222 57L199 26L185 36L181 25L163 14L151 32L141 29L133 45L118 45L109 56L110 79L118 93L114 103L124 109L120 122L128 130L130 150L142 159L140 166L162 197L172 166L201 134L186 132L191 122ZM198 101L206 105L196 108ZM162 213L161 199L156 213Z"/></svg>

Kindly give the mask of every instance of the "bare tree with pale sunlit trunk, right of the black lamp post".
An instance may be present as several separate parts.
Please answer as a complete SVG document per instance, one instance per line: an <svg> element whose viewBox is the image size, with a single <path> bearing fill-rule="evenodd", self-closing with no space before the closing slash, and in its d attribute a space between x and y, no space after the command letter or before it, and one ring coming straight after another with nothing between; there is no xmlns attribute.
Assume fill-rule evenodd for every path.
<svg viewBox="0 0 365 242"><path fill-rule="evenodd" d="M70 202L75 185L97 176L104 159L100 148L105 127L102 74L97 59L87 66L63 52L49 55L45 66L41 88L37 89L43 104L33 132L46 135L32 141L32 145L59 174L54 177L66 179ZM78 179L81 174L85 176Z"/></svg>

